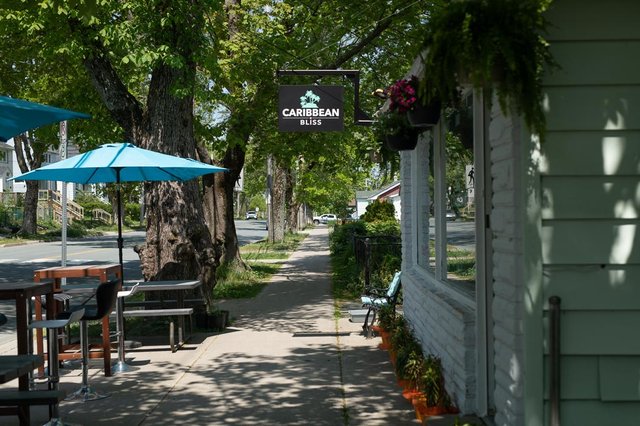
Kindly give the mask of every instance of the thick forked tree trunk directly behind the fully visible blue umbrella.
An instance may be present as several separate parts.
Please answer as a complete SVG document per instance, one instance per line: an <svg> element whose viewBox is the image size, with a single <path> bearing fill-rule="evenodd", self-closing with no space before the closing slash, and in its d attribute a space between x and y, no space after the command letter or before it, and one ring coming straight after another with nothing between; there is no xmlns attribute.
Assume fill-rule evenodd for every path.
<svg viewBox="0 0 640 426"><path fill-rule="evenodd" d="M164 4L170 7L170 3ZM177 11L176 11L177 12ZM160 13L160 11L159 11ZM193 14L187 19L201 20ZM188 27L197 27L189 22ZM92 83L127 139L137 145L179 157L196 157L193 133L195 62L193 45L183 43L191 31L181 25L163 30L158 37L173 43L185 63L182 67L158 64L151 73L146 110L128 92L109 60L109 53L97 37L85 38L91 52L84 63ZM182 89L181 95L176 89ZM188 93L188 94L185 94ZM146 280L194 279L202 282L207 307L212 309L217 267L211 235L206 227L197 181L145 183L147 236L137 246Z"/></svg>

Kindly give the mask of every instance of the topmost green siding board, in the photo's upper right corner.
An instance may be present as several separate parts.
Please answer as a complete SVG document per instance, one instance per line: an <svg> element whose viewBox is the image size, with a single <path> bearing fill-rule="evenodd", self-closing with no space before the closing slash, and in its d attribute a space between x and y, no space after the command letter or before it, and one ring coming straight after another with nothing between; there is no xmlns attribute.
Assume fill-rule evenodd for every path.
<svg viewBox="0 0 640 426"><path fill-rule="evenodd" d="M555 24L549 25L547 39L551 42L637 39L640 38L638 16L640 2L637 0L606 4L602 0L556 0L547 13L549 21Z"/></svg>

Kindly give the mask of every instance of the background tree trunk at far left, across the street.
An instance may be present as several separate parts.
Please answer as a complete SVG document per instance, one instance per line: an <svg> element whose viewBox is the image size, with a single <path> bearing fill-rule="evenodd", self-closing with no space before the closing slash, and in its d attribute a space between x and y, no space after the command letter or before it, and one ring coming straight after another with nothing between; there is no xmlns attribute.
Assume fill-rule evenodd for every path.
<svg viewBox="0 0 640 426"><path fill-rule="evenodd" d="M42 154L31 153L29 139L23 134L13 138L18 167L24 174L37 169L42 164ZM35 235L38 233L38 181L25 181L27 192L24 195L22 227L20 235Z"/></svg>

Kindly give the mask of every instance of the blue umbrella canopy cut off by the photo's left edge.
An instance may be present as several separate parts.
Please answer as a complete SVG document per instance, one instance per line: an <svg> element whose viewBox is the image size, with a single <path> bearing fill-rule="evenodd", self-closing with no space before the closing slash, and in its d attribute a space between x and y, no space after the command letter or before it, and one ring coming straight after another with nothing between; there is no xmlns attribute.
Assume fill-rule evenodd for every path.
<svg viewBox="0 0 640 426"><path fill-rule="evenodd" d="M35 102L0 96L0 141L6 142L27 130L90 115Z"/></svg>

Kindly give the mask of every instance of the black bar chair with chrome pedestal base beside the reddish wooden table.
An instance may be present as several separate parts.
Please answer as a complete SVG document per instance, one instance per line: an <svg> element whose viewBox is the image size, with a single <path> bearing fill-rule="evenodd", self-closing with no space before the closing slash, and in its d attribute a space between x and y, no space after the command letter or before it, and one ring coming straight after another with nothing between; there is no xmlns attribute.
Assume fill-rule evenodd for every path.
<svg viewBox="0 0 640 426"><path fill-rule="evenodd" d="M95 401L107 398L109 394L101 394L89 387L89 332L88 321L101 320L109 315L116 305L120 281L109 281L98 286L95 293L96 306L84 306L93 296L82 304L84 315L80 319L80 346L82 348L82 386L70 394L66 400L82 399L82 401ZM69 318L73 311L61 312L58 318Z"/></svg>

